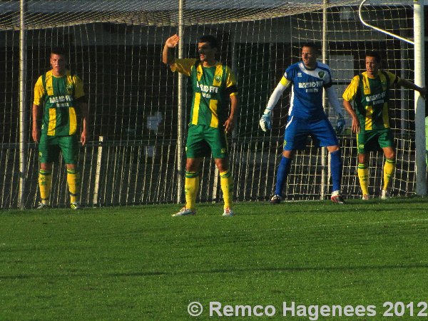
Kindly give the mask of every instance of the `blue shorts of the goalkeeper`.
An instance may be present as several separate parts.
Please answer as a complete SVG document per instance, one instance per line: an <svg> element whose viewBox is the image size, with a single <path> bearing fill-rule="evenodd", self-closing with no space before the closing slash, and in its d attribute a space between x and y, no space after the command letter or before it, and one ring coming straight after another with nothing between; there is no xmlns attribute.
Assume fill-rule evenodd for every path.
<svg viewBox="0 0 428 321"><path fill-rule="evenodd" d="M305 149L307 136L312 137L312 142L317 147L339 145L335 130L327 116L316 121L288 116L287 126L285 126L284 151Z"/></svg>

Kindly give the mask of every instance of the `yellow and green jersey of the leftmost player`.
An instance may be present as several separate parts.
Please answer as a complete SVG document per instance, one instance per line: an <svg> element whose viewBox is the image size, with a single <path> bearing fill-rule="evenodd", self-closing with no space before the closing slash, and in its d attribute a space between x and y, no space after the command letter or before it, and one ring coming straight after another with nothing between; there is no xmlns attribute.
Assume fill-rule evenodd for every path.
<svg viewBox="0 0 428 321"><path fill-rule="evenodd" d="M76 100L85 96L81 78L66 71L56 77L52 71L40 76L34 86L34 105L43 106L41 133L70 136L76 133Z"/></svg>

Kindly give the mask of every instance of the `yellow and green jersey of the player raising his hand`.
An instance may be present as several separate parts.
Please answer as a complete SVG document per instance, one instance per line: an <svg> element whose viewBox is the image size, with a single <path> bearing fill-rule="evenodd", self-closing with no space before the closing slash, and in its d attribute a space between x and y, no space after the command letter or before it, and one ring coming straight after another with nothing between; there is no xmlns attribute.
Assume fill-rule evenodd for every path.
<svg viewBox="0 0 428 321"><path fill-rule="evenodd" d="M193 87L190 124L223 127L228 118L229 97L238 94L236 80L228 66L216 63L203 67L197 59L175 59L172 71L190 77Z"/></svg>

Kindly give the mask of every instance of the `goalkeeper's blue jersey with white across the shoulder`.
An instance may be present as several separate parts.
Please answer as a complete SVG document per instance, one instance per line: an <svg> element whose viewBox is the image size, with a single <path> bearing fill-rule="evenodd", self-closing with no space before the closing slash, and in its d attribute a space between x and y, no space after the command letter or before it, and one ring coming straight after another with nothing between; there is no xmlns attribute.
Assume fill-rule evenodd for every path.
<svg viewBox="0 0 428 321"><path fill-rule="evenodd" d="M284 77L292 83L288 115L307 120L326 117L322 108L322 88L332 86L329 66L317 62L311 70L300 61L288 67Z"/></svg>

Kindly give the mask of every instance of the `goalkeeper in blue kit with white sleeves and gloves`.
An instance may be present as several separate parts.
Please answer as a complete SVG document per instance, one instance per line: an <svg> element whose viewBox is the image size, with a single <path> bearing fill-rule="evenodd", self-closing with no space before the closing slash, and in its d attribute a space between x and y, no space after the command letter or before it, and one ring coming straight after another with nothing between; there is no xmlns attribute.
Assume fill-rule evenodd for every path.
<svg viewBox="0 0 428 321"><path fill-rule="evenodd" d="M311 135L316 146L327 146L330 152L333 183L331 200L334 203L343 204L345 200L340 193L341 151L335 130L322 108L323 89L339 116L337 131L341 131L345 126L345 118L343 118L335 90L332 88L330 68L324 63L317 62L317 49L314 44L303 45L302 61L292 64L285 70L284 76L270 96L263 116L260 118L260 127L263 131L272 128L272 110L282 92L290 85L292 85L292 94L287 126L285 126L284 150L277 170L275 194L270 198L270 203L277 204L282 200L282 188L290 170L293 153L295 150L304 149L307 136Z"/></svg>

